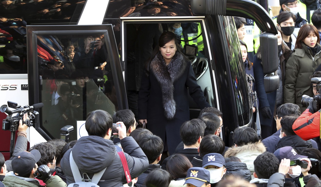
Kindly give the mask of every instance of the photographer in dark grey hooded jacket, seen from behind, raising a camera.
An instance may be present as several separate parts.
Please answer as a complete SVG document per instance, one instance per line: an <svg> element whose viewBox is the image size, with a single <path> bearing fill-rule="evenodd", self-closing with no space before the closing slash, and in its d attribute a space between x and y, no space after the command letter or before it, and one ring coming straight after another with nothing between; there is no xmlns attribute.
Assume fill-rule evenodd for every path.
<svg viewBox="0 0 321 187"><path fill-rule="evenodd" d="M121 159L113 141L109 140L112 123L112 117L103 110L95 110L87 115L85 128L89 136L81 137L73 149L65 153L60 162L67 184L75 182L69 160L71 152L80 174L87 173L89 178L107 167L98 183L100 187L119 187L126 183ZM121 124L117 127L117 131L131 178L134 179L149 167L148 159L135 140L132 137L126 137L124 123L117 122L117 124Z"/></svg>

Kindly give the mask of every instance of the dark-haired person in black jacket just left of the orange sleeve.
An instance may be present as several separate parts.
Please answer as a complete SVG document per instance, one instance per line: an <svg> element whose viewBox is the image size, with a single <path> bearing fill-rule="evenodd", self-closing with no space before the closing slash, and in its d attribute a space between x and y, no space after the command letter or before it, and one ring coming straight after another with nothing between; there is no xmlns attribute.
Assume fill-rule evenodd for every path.
<svg viewBox="0 0 321 187"><path fill-rule="evenodd" d="M292 125L298 116L285 116L281 120L281 140L276 146L276 149L291 146L298 152L302 152L304 149L312 148L311 141L302 140L298 135L292 130Z"/></svg>

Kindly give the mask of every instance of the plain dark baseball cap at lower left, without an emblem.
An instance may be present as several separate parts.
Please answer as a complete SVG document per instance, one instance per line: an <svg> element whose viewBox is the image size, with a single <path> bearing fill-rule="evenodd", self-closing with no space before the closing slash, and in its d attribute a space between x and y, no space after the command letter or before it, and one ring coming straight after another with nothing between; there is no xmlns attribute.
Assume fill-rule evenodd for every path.
<svg viewBox="0 0 321 187"><path fill-rule="evenodd" d="M13 158L11 162L12 171L17 176L26 176L31 173L32 168L40 160L40 152L33 149L30 152L22 151Z"/></svg>

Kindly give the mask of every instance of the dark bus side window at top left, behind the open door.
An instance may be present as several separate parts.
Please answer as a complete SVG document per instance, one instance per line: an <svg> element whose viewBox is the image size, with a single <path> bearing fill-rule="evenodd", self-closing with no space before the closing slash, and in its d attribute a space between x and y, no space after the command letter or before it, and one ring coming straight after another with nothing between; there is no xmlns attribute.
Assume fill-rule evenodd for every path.
<svg viewBox="0 0 321 187"><path fill-rule="evenodd" d="M26 25L76 24L84 4L83 0L1 1L0 73L27 73Z"/></svg>

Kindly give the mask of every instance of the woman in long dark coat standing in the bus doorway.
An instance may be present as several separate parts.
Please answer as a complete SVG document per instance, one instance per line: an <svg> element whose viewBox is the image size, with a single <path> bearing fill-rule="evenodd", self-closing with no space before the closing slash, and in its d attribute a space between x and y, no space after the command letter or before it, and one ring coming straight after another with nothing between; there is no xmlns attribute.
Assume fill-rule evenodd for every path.
<svg viewBox="0 0 321 187"><path fill-rule="evenodd" d="M160 136L165 143L164 151L170 154L181 142L181 124L189 120L187 88L200 109L210 107L196 83L191 63L178 46L173 32L160 36L159 49L154 50L148 61L138 94L139 123L145 123Z"/></svg>

